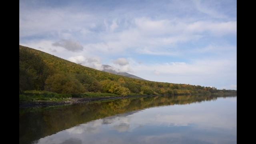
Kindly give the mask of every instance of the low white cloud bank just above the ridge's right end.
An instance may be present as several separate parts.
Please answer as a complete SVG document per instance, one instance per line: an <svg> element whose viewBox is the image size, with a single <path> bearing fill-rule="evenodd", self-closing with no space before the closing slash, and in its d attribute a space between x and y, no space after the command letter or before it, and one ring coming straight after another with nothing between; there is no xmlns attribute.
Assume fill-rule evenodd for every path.
<svg viewBox="0 0 256 144"><path fill-rule="evenodd" d="M232 82L236 78L236 63L233 59L194 60L191 63L168 62L154 64L130 63L131 74L146 80L214 86Z"/></svg>

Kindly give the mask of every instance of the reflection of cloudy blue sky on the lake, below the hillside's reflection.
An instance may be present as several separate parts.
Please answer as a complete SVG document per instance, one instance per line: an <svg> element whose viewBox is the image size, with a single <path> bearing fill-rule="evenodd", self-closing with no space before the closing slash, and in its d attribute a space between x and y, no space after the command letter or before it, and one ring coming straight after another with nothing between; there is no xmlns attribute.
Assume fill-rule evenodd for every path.
<svg viewBox="0 0 256 144"><path fill-rule="evenodd" d="M71 138L78 144L236 143L236 103L226 100L110 116L41 138L38 144L72 144Z"/></svg>

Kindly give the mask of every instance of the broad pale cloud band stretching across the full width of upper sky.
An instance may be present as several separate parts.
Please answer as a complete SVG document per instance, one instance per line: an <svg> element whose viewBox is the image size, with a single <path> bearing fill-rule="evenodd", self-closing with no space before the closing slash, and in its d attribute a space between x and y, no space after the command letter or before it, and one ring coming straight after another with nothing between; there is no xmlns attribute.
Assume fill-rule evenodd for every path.
<svg viewBox="0 0 256 144"><path fill-rule="evenodd" d="M161 48L162 46L196 41L204 37L204 32L210 32L214 36L236 34L236 21L194 20L191 22L138 16L125 18L126 24L121 21L124 21L124 18L104 18L104 16L78 12L73 7L40 8L33 12L24 9L20 18L20 36L24 38L49 35L66 41L73 39L83 42L80 45L73 41L64 42L64 40L55 43L71 51L82 50L83 46L89 52L117 54L135 50L145 54L166 55L173 52L166 52L166 49ZM105 25L106 29L102 30L102 25ZM96 31L90 30L92 28ZM118 31L116 31L117 28ZM76 48L65 46L68 43L76 45ZM152 52L154 48L160 52ZM149 52L142 52L143 49Z"/></svg>

